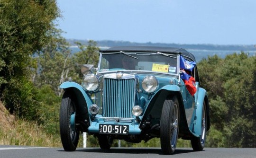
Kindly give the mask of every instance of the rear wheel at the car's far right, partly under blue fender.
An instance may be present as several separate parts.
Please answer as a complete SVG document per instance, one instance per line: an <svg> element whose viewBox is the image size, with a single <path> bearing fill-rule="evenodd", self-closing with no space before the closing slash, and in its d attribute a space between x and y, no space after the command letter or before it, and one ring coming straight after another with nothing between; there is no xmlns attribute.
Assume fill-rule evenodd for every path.
<svg viewBox="0 0 256 158"><path fill-rule="evenodd" d="M202 108L202 127L201 127L201 136L199 138L193 138L191 140L191 145L194 151L202 151L205 145L206 140L206 129L207 129L207 116L206 116L206 106L205 102L203 102Z"/></svg>

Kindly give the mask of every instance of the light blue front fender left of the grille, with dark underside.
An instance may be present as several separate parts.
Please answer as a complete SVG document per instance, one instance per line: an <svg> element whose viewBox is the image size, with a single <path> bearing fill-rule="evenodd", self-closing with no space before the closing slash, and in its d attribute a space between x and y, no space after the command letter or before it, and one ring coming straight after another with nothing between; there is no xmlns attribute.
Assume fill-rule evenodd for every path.
<svg viewBox="0 0 256 158"><path fill-rule="evenodd" d="M91 124L91 114L88 112L88 109L94 103L91 97L86 93L85 89L76 82L68 81L61 84L60 88L63 88L65 92L72 94L76 103L77 113L83 115L82 117L85 117Z"/></svg>

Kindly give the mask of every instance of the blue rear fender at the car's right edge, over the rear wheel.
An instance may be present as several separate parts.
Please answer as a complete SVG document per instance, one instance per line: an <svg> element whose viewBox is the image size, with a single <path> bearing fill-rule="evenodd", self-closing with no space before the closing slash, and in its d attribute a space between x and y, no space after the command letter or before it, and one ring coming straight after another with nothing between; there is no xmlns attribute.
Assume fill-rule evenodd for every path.
<svg viewBox="0 0 256 158"><path fill-rule="evenodd" d="M202 108L205 97L207 97L207 92L203 88L199 88L198 98L197 98L197 109L196 109L196 120L194 124L194 134L201 135L201 119L202 119ZM205 111L206 113L206 111Z"/></svg>

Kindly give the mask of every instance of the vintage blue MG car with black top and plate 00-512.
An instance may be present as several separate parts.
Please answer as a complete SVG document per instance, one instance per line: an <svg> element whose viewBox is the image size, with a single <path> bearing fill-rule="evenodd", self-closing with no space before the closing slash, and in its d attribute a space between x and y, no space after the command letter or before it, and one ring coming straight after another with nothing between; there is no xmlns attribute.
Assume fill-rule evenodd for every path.
<svg viewBox="0 0 256 158"><path fill-rule="evenodd" d="M195 80L195 94L186 88L181 65ZM178 138L191 140L193 150L204 148L210 129L208 96L200 88L191 53L171 47L112 47L100 51L97 68L82 65L82 73L82 84L70 80L60 86L64 150L76 149L80 132L98 137L101 149L110 149L115 139L139 143L155 137L164 154L174 153Z"/></svg>

